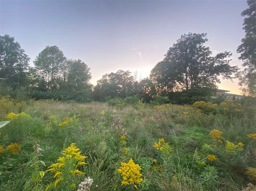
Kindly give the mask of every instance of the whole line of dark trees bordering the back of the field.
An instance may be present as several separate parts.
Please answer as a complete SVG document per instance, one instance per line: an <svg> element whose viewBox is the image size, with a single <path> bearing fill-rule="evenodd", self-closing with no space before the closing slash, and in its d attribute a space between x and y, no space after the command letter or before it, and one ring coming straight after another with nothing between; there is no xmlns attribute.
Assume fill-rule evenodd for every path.
<svg viewBox="0 0 256 191"><path fill-rule="evenodd" d="M34 99L76 101L130 96L150 101L166 96L185 103L212 96L220 77L237 77L243 93L256 96L256 1L247 2L248 8L241 14L246 35L237 49L243 69L230 65L231 52L213 55L205 46L206 33L188 33L168 49L149 77L138 80L130 71L118 70L105 74L93 86L88 65L66 58L57 46L46 46L33 61L34 66L29 66L30 58L20 44L4 35L0 36L1 92L8 87L23 90Z"/></svg>

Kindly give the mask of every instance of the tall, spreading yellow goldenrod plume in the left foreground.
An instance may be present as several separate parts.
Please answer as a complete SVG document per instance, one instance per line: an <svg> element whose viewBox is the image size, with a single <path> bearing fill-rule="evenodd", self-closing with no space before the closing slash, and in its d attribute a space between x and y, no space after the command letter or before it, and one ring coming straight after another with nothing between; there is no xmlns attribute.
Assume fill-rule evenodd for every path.
<svg viewBox="0 0 256 191"><path fill-rule="evenodd" d="M62 157L58 158L58 162L52 164L46 170L46 172L55 173L53 178L57 178L53 184L48 185L48 189L53 185L56 187L60 181L65 181L63 174L66 172L72 176L85 174L78 170L77 167L87 164L84 162L87 157L81 155L80 149L74 143L70 144L61 154Z"/></svg>

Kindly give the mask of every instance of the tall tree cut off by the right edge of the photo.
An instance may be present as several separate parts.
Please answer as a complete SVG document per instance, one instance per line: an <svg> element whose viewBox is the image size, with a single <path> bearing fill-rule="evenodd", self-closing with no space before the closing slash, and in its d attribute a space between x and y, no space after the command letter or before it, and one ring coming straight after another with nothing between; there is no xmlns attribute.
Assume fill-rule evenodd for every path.
<svg viewBox="0 0 256 191"><path fill-rule="evenodd" d="M242 38L242 44L237 49L245 68L239 71L237 76L243 93L256 96L256 1L247 0L247 4L249 8L241 13L245 17L245 38Z"/></svg>

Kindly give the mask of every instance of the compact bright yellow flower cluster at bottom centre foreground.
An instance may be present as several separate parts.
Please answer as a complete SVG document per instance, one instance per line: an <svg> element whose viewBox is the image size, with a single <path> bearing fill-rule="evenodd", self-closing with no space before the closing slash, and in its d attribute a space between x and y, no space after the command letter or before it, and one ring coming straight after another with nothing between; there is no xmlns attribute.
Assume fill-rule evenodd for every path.
<svg viewBox="0 0 256 191"><path fill-rule="evenodd" d="M143 179L140 174L140 166L135 164L132 159L128 163L121 162L121 167L117 169L117 172L123 176L122 185L133 185L136 189L136 183L141 183Z"/></svg>

